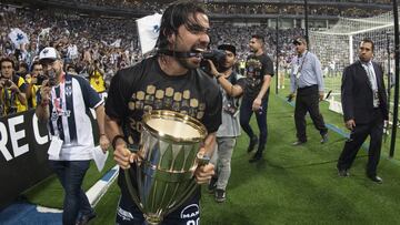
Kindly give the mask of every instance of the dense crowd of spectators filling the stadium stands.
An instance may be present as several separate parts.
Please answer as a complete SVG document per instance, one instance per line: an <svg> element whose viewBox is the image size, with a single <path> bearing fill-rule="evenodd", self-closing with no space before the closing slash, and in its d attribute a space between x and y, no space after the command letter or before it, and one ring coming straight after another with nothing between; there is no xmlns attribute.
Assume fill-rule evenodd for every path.
<svg viewBox="0 0 400 225"><path fill-rule="evenodd" d="M91 3L93 0L79 1ZM98 0L98 2L112 4L113 1ZM138 1L124 2L132 3ZM142 3L144 4L144 2ZM260 7L239 11L246 13L253 13L256 11L270 13L273 10L276 9ZM288 7L287 10L296 10L296 8ZM30 86L31 73L34 69L33 65L38 53L44 47L54 47L61 53L66 71L82 75L89 80L93 75L101 75L104 88L108 86L116 71L129 67L142 58L137 25L133 19L83 17L61 10L1 8L0 28L0 58L7 57L14 61L16 74L24 79L27 88ZM29 38L28 44L16 45L12 43L8 34L13 28L18 28L27 33ZM279 55L281 63L287 63L292 54L291 40L293 37L300 35L302 30L296 28L280 30L279 32ZM267 24L237 27L231 23L216 22L211 27L211 48L216 49L220 43L232 43L237 47L239 61L243 61L249 54L248 41L253 33L264 37L267 43L266 52L274 57L277 34L276 30L268 28ZM0 89L2 89L1 81ZM99 90L99 92L102 91ZM6 95L9 94L6 94L4 89L2 89L0 91L0 105L4 104ZM27 95L34 96L34 94ZM34 106L34 104L27 104L27 109L29 106ZM8 114L3 106L0 108L0 114Z"/></svg>

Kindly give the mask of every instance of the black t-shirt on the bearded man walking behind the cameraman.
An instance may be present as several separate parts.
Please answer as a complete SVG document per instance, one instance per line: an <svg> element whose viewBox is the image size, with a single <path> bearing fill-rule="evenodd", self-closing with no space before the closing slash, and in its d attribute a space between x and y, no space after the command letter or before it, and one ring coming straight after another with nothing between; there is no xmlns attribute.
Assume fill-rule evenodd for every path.
<svg viewBox="0 0 400 225"><path fill-rule="evenodd" d="M250 55L246 62L246 78L238 84L242 86L243 98L254 99L259 94L266 74L273 76L273 63L267 54ZM263 99L268 96L269 89Z"/></svg>

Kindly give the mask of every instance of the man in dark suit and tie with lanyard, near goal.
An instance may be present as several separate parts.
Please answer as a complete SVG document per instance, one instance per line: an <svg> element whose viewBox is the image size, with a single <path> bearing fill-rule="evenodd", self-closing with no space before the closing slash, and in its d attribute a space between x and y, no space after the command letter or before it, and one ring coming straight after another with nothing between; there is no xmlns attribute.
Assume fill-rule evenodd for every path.
<svg viewBox="0 0 400 225"><path fill-rule="evenodd" d="M383 123L389 112L384 91L382 68L372 61L373 42L364 39L360 42L359 60L347 67L342 76L341 102L346 127L351 131L338 161L339 176L349 176L348 170L356 155L370 135L367 176L377 183L382 144Z"/></svg>

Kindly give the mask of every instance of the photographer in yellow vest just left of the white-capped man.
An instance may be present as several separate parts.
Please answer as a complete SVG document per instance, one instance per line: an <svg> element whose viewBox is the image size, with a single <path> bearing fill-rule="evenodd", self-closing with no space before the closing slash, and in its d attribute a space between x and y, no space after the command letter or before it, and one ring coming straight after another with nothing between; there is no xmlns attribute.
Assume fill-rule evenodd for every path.
<svg viewBox="0 0 400 225"><path fill-rule="evenodd" d="M28 83L27 101L29 109L33 109L37 106L36 93L38 92L43 80L46 79L47 76L44 76L43 74L43 67L40 64L40 62L34 61L32 63L32 72L26 78L26 81Z"/></svg>

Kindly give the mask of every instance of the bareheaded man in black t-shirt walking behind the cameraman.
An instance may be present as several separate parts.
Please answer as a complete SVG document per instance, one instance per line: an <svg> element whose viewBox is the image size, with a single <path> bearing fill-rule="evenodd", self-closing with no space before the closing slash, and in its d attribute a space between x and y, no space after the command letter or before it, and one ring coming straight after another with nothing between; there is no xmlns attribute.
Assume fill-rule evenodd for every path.
<svg viewBox="0 0 400 225"><path fill-rule="evenodd" d="M263 51L264 40L262 35L252 35L249 47L252 54L246 61L246 85L240 105L240 125L250 137L248 152L252 152L258 143L257 152L249 161L254 163L262 158L262 152L267 144L267 108L269 85L273 76L273 63ZM257 137L250 126L253 112L260 130L260 139Z"/></svg>

